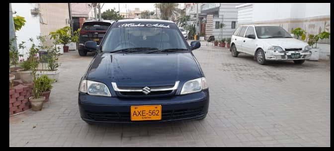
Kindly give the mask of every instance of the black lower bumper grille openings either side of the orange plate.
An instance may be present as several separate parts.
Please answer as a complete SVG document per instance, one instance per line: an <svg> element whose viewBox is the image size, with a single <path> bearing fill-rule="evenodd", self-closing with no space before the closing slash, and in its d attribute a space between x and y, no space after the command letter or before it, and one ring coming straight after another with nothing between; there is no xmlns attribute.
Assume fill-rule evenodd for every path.
<svg viewBox="0 0 334 151"><path fill-rule="evenodd" d="M199 108L162 111L162 121L185 119L202 114L203 106ZM97 122L138 122L131 121L130 112L89 112L90 119ZM140 122L140 121L139 121Z"/></svg>

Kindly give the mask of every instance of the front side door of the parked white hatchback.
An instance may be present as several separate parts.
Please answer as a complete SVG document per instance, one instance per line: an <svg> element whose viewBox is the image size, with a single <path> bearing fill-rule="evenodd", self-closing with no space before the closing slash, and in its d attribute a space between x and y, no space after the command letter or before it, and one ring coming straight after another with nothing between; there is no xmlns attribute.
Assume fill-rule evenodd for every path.
<svg viewBox="0 0 334 151"><path fill-rule="evenodd" d="M243 39L242 49L243 49L243 52L250 54L250 55L254 55L255 48L256 48L256 37L255 37L254 27L249 26L247 28L245 37Z"/></svg>

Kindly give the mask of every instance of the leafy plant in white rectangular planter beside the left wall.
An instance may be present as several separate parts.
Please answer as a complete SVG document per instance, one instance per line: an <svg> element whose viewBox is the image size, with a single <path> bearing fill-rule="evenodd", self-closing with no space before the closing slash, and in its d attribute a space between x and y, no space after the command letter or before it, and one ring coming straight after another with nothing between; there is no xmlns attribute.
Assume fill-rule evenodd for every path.
<svg viewBox="0 0 334 151"><path fill-rule="evenodd" d="M60 64L58 63L58 57L60 56L59 49L57 48L48 48L47 49L48 56L48 69L44 69L44 64L42 63L42 70L37 70L37 76L47 75L50 79L54 79L54 81L58 81L59 73L58 67Z"/></svg>

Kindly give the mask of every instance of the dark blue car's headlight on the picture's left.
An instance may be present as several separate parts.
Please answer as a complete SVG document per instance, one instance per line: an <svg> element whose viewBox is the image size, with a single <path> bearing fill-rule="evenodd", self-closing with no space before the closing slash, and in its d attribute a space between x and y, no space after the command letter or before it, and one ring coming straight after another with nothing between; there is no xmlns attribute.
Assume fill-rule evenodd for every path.
<svg viewBox="0 0 334 151"><path fill-rule="evenodd" d="M111 96L107 85L85 79L81 81L79 91L89 95Z"/></svg>

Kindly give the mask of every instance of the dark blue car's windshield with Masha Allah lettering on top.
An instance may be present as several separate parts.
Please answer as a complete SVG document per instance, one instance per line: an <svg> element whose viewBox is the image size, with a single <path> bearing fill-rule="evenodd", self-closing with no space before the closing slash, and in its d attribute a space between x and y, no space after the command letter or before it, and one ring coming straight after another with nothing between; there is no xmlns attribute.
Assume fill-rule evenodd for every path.
<svg viewBox="0 0 334 151"><path fill-rule="evenodd" d="M132 23L133 24L133 23ZM187 49L177 27L169 25L135 23L113 25L103 40L102 51L139 52L148 50ZM143 26L142 26L143 25ZM146 26L149 25L149 26ZM155 25L155 26L153 26Z"/></svg>

